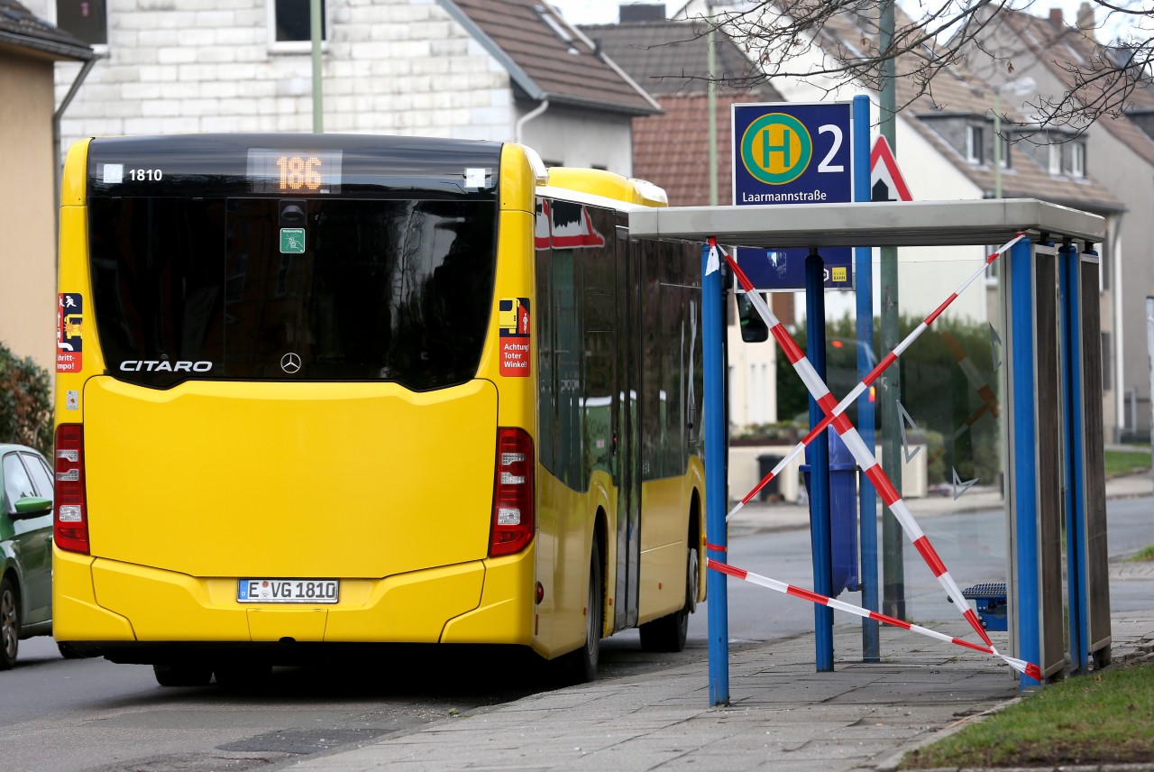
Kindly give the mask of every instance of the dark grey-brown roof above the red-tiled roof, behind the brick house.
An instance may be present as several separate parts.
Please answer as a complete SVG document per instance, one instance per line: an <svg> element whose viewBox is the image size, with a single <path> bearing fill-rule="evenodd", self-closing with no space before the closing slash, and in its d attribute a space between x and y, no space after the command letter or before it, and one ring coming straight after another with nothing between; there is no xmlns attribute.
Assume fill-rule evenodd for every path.
<svg viewBox="0 0 1154 772"><path fill-rule="evenodd" d="M627 22L582 27L582 31L600 43L605 52L650 93L705 93L709 72L705 25ZM750 75L760 78L749 58L724 35L715 38L713 72L727 90L733 91L748 91L742 87ZM762 87L762 90L767 88Z"/></svg>

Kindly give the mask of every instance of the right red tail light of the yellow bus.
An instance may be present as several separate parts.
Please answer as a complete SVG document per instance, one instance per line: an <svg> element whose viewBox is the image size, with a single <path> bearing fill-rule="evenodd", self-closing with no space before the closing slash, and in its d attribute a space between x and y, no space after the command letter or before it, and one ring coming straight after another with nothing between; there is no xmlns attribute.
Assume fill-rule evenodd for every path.
<svg viewBox="0 0 1154 772"><path fill-rule="evenodd" d="M524 429L497 428L489 556L511 555L533 540L533 440Z"/></svg>

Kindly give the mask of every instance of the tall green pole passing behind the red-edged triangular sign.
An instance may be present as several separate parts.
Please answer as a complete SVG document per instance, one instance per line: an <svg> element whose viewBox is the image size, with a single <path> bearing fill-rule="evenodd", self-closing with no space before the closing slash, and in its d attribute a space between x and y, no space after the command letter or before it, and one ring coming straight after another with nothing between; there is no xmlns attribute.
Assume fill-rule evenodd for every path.
<svg viewBox="0 0 1154 772"><path fill-rule="evenodd" d="M893 45L893 0L882 2L881 44L883 55L887 55ZM896 66L893 58L882 62L882 97L881 119L882 136L890 143L894 155L898 142L894 132L894 113L897 97L894 95ZM900 343L898 320L898 249L882 247L882 351L893 351ZM898 412L898 400L901 398L900 365L891 367L881 377L882 394L878 399L878 413L882 419L882 460L885 473L894 488L901 492L901 462L905 450L901 447L901 415ZM906 571L902 565L902 533L897 518L889 509L882 514L882 613L906 619Z"/></svg>

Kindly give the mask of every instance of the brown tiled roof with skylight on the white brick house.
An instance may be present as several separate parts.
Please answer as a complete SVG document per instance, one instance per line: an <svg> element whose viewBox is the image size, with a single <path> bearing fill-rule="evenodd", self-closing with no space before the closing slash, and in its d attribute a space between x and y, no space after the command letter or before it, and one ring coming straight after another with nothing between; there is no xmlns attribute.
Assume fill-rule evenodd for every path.
<svg viewBox="0 0 1154 772"><path fill-rule="evenodd" d="M531 99L629 115L660 112L645 91L539 0L440 0Z"/></svg>

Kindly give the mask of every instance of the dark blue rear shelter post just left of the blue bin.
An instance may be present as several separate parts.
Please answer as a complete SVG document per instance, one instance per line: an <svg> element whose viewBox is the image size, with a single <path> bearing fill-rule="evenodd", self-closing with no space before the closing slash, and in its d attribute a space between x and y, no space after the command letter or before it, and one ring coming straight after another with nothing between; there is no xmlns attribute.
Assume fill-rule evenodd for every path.
<svg viewBox="0 0 1154 772"><path fill-rule="evenodd" d="M811 252L805 258L805 357L825 380L825 267ZM817 426L825 412L811 396L809 426ZM826 429L809 445L809 534L814 550L814 592L833 594L833 547L830 533L830 442ZM833 670L833 609L814 605L817 672Z"/></svg>

